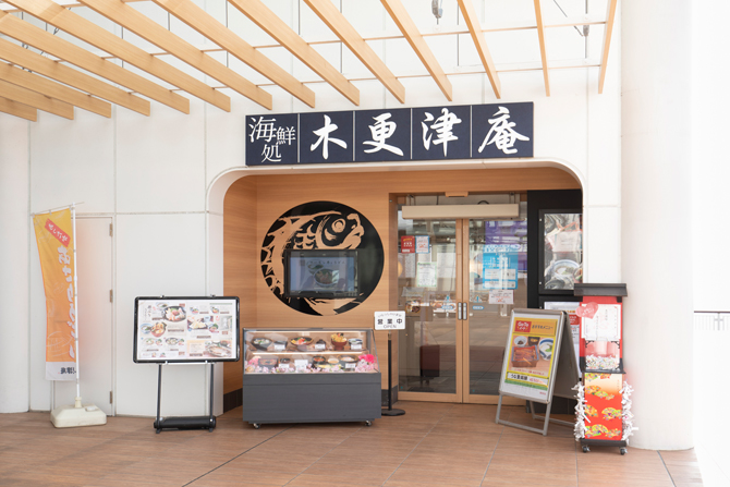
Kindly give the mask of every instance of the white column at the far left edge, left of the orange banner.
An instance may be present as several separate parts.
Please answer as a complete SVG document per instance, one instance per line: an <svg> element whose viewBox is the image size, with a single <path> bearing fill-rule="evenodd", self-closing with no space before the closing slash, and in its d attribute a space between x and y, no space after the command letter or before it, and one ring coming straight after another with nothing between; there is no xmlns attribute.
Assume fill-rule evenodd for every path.
<svg viewBox="0 0 730 487"><path fill-rule="evenodd" d="M28 411L28 122L0 114L0 413Z"/></svg>

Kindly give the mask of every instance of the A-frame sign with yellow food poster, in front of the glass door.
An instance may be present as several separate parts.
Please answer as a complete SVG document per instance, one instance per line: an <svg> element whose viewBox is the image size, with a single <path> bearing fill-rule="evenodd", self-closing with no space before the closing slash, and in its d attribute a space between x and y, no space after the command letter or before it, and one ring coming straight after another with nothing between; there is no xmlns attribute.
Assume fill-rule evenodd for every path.
<svg viewBox="0 0 730 487"><path fill-rule="evenodd" d="M497 423L547 435L552 395L572 397L570 388L579 380L567 313L561 311L514 309L510 320L504 362L499 381ZM545 419L543 428L534 428L500 418L502 397L511 395L530 402L533 418ZM547 404L545 416L535 415L533 402Z"/></svg>

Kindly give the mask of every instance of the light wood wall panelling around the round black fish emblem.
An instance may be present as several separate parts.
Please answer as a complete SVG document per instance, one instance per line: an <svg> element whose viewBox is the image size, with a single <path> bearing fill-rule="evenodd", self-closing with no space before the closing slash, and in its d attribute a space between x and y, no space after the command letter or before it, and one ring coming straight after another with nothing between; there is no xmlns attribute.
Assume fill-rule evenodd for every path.
<svg viewBox="0 0 730 487"><path fill-rule="evenodd" d="M580 187L571 174L556 168L246 176L234 183L226 196L226 294L241 299L244 327L372 328L373 313L391 309L394 302L391 283L398 282L398 228L392 214L398 195ZM259 249L270 226L291 208L316 200L341 203L363 214L378 231L386 253L377 289L364 303L342 315L312 316L291 309L269 291L260 272ZM235 242L229 244L229 239ZM384 389L388 386L387 340L387 332L376 333ZM241 365L235 364L235 377L229 378L232 372L226 369L226 383L236 383L232 390L240 387Z"/></svg>

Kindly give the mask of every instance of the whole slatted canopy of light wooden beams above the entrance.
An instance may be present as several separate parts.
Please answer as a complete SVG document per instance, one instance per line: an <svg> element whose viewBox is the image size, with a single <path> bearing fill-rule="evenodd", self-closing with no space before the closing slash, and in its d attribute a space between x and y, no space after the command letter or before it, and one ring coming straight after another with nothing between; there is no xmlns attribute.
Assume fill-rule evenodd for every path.
<svg viewBox="0 0 730 487"><path fill-rule="evenodd" d="M141 1L154 2L216 47L211 48L207 44L206 48L200 49L173 34L169 26L159 24L130 4ZM224 1L221 0L223 3ZM534 22L515 24L506 21L502 25L490 25L486 28L477 12L480 2L477 5L475 0L446 0L447 3L449 1L453 3L453 8L459 9L463 21L460 24L463 25L422 26L419 31L412 16L413 12L409 12L402 0L380 0L384 12L387 12L400 32L368 35L358 32L331 0L303 0L300 9L309 9L331 31L314 39L300 36L263 0L228 0L231 7L273 39L273 44L252 45L197 7L193 0L0 0L0 112L31 121L37 120L37 110L73 119L75 107L109 118L113 104L149 115L149 100L153 100L190 113L191 96L221 110L231 111L231 98L228 94L241 95L263 109L270 110L273 106L273 97L269 92L271 86L278 86L305 105L317 108L315 92L307 86L314 83L329 84L353 106L358 106L360 90L356 85L364 80L379 81L399 102L404 104L407 93L401 80L407 77L433 78L447 102L453 98L449 80L451 76L486 74L495 97L501 98L503 88L500 72L533 70L543 72L545 93L550 96L550 70L567 68L598 68L598 93L603 93L618 0L607 0L605 15L586 14L575 19L564 17L553 23L546 23L544 17L548 0L533 0ZM430 8L430 2L423 3L424 9ZM159 50L142 49L80 15L76 10L78 8L95 11ZM489 19L491 22L497 21L491 16ZM38 27L42 23L47 24L48 29ZM604 26L598 61L591 62L584 58L576 61L548 59L547 29L580 29L589 25ZM59 31L96 49L92 52L90 48L81 47L83 42L65 40L56 35ZM539 63L496 65L491 54L495 46L487 44L485 33L518 31L534 31L537 34L535 47L539 49ZM463 35L471 37L480 65L440 65L429 46L438 46L441 39ZM576 38L576 41L583 40ZM370 47L372 41L384 39L406 40L423 63L423 71L399 72L398 65L389 66ZM342 73L313 47L331 44L340 44L343 49L350 50L372 75ZM265 49L272 47L287 49L311 69L313 74L309 78L297 80L289 70L265 56ZM221 57L218 52L240 60L267 81L254 83L246 80L240 72L219 61ZM163 60L169 57L179 59L205 76L191 75L190 70L183 71L171 65ZM143 73L139 74L141 72ZM209 81L200 81L204 77Z"/></svg>

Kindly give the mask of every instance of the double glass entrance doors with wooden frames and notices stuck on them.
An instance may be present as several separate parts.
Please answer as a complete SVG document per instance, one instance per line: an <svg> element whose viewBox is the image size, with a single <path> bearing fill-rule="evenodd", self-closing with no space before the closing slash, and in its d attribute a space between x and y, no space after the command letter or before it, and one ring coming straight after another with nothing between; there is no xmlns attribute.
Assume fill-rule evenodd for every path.
<svg viewBox="0 0 730 487"><path fill-rule="evenodd" d="M510 314L527 305L526 221L400 223L399 398L496 403Z"/></svg>

